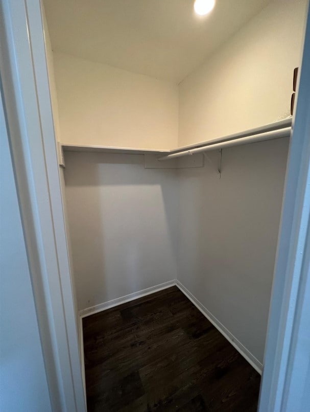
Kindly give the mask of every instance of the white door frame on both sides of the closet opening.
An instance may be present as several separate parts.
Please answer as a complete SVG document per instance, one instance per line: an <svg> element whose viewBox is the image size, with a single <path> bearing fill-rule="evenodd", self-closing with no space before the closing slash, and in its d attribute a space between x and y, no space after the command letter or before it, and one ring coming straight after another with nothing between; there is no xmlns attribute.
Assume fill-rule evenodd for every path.
<svg viewBox="0 0 310 412"><path fill-rule="evenodd" d="M0 0L0 73L53 410L86 411L39 0ZM310 17L274 272L259 412L302 410L310 372ZM307 328L310 331L310 327ZM310 332L309 332L310 333ZM290 409L291 408L291 409Z"/></svg>

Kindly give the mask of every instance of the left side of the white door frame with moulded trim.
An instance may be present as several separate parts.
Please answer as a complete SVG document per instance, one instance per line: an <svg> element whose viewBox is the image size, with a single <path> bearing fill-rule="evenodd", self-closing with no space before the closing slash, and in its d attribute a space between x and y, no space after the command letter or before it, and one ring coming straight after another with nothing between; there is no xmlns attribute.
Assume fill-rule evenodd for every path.
<svg viewBox="0 0 310 412"><path fill-rule="evenodd" d="M0 0L0 16L1 95L52 409L85 412L41 3Z"/></svg>

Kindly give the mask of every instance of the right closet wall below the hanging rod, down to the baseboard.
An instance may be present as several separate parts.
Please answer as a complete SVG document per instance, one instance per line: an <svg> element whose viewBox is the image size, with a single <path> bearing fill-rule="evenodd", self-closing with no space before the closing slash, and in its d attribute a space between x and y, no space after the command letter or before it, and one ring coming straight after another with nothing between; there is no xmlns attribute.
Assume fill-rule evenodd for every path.
<svg viewBox="0 0 310 412"><path fill-rule="evenodd" d="M288 144L223 150L221 179L209 162L178 172L178 280L261 363Z"/></svg>

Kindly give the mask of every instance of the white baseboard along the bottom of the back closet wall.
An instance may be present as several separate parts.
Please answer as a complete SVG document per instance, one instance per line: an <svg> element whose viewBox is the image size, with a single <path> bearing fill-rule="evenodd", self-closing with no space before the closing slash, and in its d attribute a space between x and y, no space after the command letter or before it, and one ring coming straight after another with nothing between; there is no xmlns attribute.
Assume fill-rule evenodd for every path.
<svg viewBox="0 0 310 412"><path fill-rule="evenodd" d="M152 286L147 289L139 290L138 292L130 293L129 295L126 295L126 296L117 297L116 299L113 299L111 301L100 303L99 305L91 306L90 308L80 310L79 316L80 318L83 318L85 316L90 316L90 315L93 315L94 313L101 312L102 310L110 309L110 308L113 308L114 306L122 305L123 303L130 302L130 301L134 301L135 299L138 299L139 297L147 296L151 293L159 292L160 290L167 289L175 285L176 285L176 281L175 279L173 279L171 281L161 283L160 285Z"/></svg>

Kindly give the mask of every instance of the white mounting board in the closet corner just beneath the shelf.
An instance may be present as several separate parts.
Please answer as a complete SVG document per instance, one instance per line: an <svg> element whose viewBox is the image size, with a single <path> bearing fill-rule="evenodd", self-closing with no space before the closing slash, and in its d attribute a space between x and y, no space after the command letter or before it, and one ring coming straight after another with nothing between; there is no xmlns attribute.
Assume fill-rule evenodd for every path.
<svg viewBox="0 0 310 412"><path fill-rule="evenodd" d="M145 154L146 169L186 169L191 167L203 167L204 157L202 153L184 156L168 161L160 162L158 157L161 155Z"/></svg>

